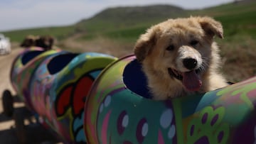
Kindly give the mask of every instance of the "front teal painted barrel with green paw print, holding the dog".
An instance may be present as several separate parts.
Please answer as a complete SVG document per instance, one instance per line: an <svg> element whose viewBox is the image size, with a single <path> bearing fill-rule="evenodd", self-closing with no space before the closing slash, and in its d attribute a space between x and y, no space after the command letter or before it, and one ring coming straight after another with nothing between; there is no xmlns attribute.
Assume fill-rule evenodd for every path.
<svg viewBox="0 0 256 144"><path fill-rule="evenodd" d="M150 97L136 57L112 63L85 103L88 143L255 143L256 77L206 94L166 101Z"/></svg>

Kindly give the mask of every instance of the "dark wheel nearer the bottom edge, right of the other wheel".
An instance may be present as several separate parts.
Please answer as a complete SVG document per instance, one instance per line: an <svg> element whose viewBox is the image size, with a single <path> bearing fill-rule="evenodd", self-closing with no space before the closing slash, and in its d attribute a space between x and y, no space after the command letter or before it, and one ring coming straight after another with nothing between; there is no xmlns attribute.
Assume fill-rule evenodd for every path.
<svg viewBox="0 0 256 144"><path fill-rule="evenodd" d="M22 111L17 110L14 112L14 122L15 122L18 143L25 144L26 143L26 128L24 125L24 115L23 115Z"/></svg>

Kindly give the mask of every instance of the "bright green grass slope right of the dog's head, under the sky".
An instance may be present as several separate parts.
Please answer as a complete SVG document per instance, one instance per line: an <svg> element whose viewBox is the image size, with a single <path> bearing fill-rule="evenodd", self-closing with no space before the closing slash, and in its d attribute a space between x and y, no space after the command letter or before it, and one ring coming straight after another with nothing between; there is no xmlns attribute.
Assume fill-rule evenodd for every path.
<svg viewBox="0 0 256 144"><path fill-rule="evenodd" d="M190 13L193 16L213 16L223 24L225 37L250 35L256 40L256 1L224 4Z"/></svg>

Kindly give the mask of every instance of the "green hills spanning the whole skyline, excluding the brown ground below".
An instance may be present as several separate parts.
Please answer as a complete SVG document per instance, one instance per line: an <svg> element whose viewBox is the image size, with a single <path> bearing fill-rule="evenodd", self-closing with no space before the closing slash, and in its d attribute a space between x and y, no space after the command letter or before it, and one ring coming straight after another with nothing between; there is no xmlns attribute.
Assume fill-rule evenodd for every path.
<svg viewBox="0 0 256 144"><path fill-rule="evenodd" d="M223 23L225 35L238 33L256 36L256 1L238 2L214 6L208 9L188 11L176 6L132 6L105 9L92 18L75 23L73 26L33 28L8 31L4 34L11 40L20 42L29 34L50 34L63 40L75 33L87 33L81 39L91 40L99 35L124 40L134 40L149 26L167 18L187 16L213 16Z"/></svg>

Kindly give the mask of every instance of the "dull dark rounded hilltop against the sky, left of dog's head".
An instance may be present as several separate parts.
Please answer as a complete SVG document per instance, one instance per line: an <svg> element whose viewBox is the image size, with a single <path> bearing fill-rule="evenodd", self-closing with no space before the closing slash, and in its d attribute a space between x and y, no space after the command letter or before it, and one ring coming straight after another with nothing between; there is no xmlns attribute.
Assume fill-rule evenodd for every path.
<svg viewBox="0 0 256 144"><path fill-rule="evenodd" d="M114 28L127 28L163 21L186 15L186 11L169 5L116 7L105 9L75 26L82 31L107 31Z"/></svg>

